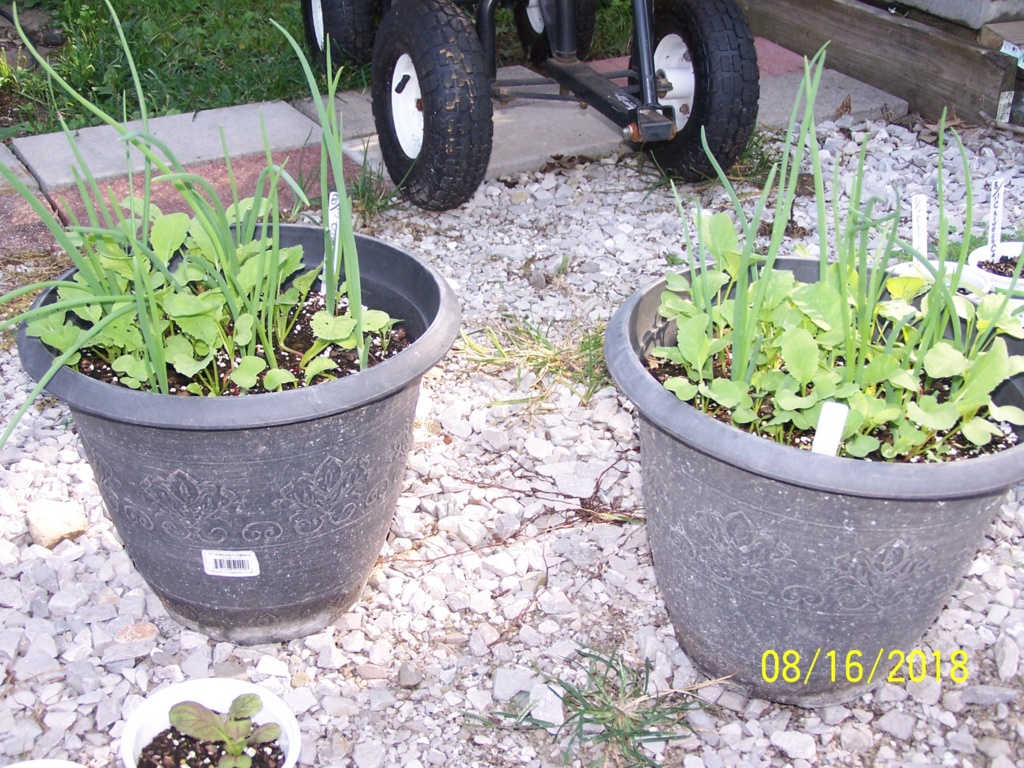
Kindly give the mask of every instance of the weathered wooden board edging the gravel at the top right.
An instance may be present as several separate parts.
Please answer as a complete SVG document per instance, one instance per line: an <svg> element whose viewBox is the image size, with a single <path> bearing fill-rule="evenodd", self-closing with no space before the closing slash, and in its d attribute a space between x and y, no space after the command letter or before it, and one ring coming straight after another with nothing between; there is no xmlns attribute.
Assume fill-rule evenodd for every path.
<svg viewBox="0 0 1024 768"><path fill-rule="evenodd" d="M828 42L826 66L938 120L969 123L1009 108L1016 59L856 0L740 0L754 34L807 56ZM830 42L829 42L830 41ZM1010 96L1005 94L1009 93Z"/></svg>

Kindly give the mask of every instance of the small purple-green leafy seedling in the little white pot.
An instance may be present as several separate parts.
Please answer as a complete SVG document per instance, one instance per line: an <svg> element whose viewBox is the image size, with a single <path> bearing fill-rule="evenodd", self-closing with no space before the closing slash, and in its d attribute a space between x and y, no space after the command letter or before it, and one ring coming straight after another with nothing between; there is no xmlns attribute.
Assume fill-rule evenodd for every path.
<svg viewBox="0 0 1024 768"><path fill-rule="evenodd" d="M186 736L223 742L225 754L218 768L251 768L253 761L246 750L281 737L281 726L276 723L253 723L253 716L261 709L263 702L257 694L243 693L231 701L226 715L198 701L182 701L171 708L170 720L171 725Z"/></svg>

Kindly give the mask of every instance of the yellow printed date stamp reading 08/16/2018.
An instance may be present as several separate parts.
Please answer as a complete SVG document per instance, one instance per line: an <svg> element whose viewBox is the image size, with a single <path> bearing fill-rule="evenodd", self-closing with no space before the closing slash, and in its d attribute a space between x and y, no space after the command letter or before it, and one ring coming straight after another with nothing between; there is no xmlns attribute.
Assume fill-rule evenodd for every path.
<svg viewBox="0 0 1024 768"><path fill-rule="evenodd" d="M865 658L859 650L849 650L844 653L837 650L822 651L821 648L817 648L810 657L801 656L799 651L792 648L784 650L768 648L761 654L761 678L766 683L781 681L806 685L820 664L834 683L870 683L874 680L880 666L889 669L886 681L890 683L921 683L930 678L942 682L943 671L950 682L963 683L968 678L967 662L967 651L962 649L951 651L943 659L942 652L938 650L926 652L919 648L906 653L898 648L888 651L879 648L878 654L871 659ZM945 670L943 663L946 664Z"/></svg>

